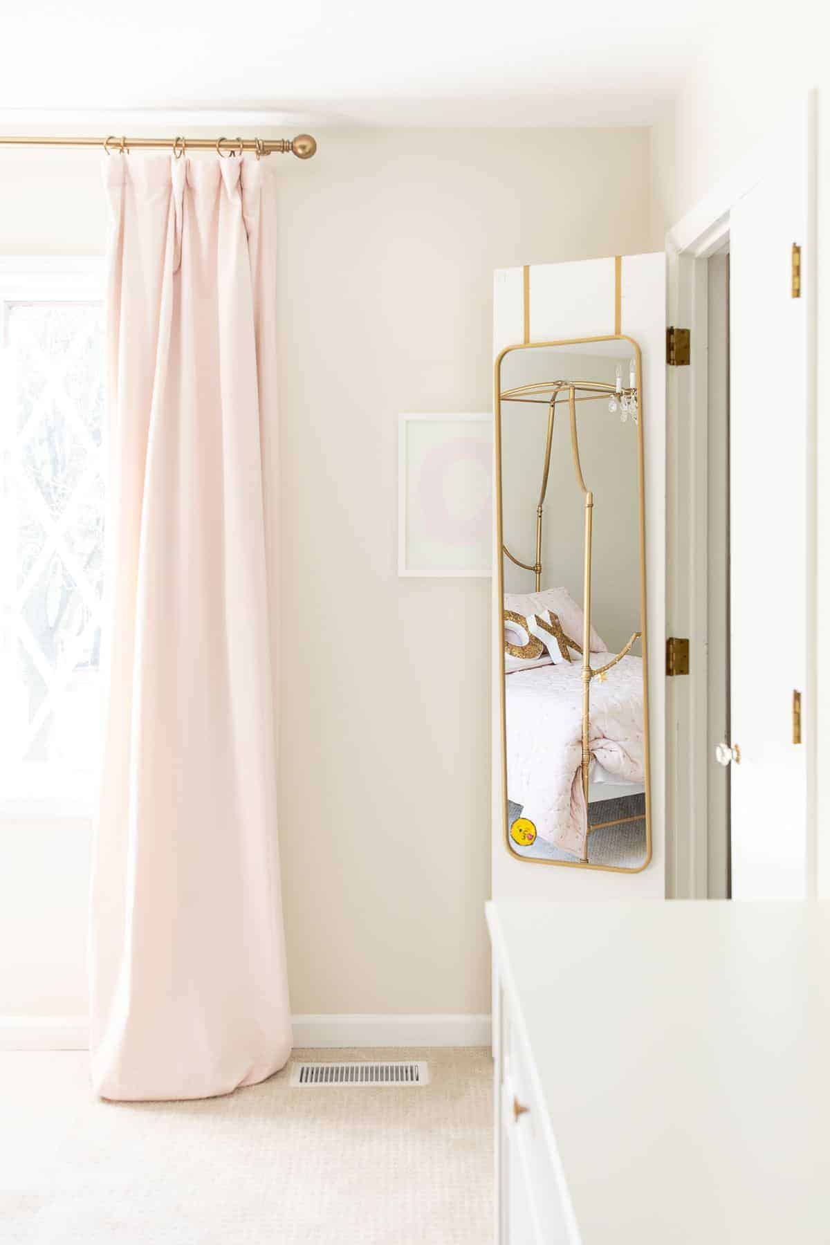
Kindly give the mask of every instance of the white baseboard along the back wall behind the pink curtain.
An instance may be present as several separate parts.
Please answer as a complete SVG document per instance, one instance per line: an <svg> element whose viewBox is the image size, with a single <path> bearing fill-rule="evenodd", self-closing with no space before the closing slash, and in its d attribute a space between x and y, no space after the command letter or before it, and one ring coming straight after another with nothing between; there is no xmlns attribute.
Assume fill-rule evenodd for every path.
<svg viewBox="0 0 830 1245"><path fill-rule="evenodd" d="M489 1046L490 1017L416 1013L413 1016L294 1016L294 1045L341 1046ZM86 1051L86 1016L0 1016L0 1051Z"/></svg>

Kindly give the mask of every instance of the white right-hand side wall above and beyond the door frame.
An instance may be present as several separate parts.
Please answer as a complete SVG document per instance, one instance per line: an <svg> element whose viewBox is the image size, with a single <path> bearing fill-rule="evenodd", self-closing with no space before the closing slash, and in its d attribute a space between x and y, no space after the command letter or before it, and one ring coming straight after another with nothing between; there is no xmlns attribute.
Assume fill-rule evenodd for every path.
<svg viewBox="0 0 830 1245"><path fill-rule="evenodd" d="M815 0L794 0L775 20L760 11L750 19L744 5L720 5L717 25L683 83L674 110L652 133L655 245L744 157L775 132L788 113L815 90L818 121L818 532L815 545L819 637L830 634L830 392L821 382L830 332L830 62L828 15ZM794 239L796 240L796 239ZM818 746L816 835L819 893L830 896L830 781L823 758L830 756L830 664L818 646L816 705L805 705ZM813 713L810 713L810 708ZM808 716L809 715L809 716ZM809 727L808 727L809 728Z"/></svg>

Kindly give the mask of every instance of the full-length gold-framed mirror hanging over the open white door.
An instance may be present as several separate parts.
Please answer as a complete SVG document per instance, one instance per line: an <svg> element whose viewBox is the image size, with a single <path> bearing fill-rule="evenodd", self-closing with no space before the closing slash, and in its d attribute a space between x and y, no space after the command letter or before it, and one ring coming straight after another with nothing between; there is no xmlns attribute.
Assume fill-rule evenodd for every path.
<svg viewBox="0 0 830 1245"><path fill-rule="evenodd" d="M495 367L505 842L533 863L651 859L637 344L531 344Z"/></svg>

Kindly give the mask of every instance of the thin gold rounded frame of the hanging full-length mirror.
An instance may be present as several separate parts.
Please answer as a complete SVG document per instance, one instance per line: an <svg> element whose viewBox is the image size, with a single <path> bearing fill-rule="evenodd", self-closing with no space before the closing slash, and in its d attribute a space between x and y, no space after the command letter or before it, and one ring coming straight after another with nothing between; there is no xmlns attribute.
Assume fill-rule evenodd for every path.
<svg viewBox="0 0 830 1245"><path fill-rule="evenodd" d="M642 355L640 345L633 337L622 332L604 334L599 337L566 337L560 341L529 341L516 346L505 346L499 352L494 365L494 449L495 449L495 548L497 548L497 593L501 619L504 613L504 530L501 517L501 364L508 355L523 350L550 350L554 346L584 346L599 341L627 342L633 354L637 371L637 488L640 493L640 622L642 646L642 710L643 710L643 773L645 773L645 806L646 806L646 858L636 869L627 869L623 865L591 864L589 860L545 860L523 857L513 849L510 843L510 827L508 824L508 749L506 749L506 696L505 696L505 666L504 642L501 639L501 626L497 630L499 645L499 743L501 748L501 818L504 825L504 845L514 860L523 864L559 865L565 869L600 869L605 873L642 873L651 864L651 757L650 757L650 721L648 721L648 624L646 615L646 491L645 491L645 454L643 454L643 425L645 402L642 386ZM590 496L590 494L589 494ZM509 555L510 557L510 555ZM515 559L511 559L515 561ZM539 555L538 555L539 560ZM520 563L519 565L524 565ZM591 544L590 538L585 544L585 571L586 581L590 579ZM533 568L526 568L533 569ZM590 635L591 615L590 598L582 601L585 613L585 634ZM587 799L586 799L587 808ZM586 812L587 817L587 812ZM586 832L590 834L590 828Z"/></svg>

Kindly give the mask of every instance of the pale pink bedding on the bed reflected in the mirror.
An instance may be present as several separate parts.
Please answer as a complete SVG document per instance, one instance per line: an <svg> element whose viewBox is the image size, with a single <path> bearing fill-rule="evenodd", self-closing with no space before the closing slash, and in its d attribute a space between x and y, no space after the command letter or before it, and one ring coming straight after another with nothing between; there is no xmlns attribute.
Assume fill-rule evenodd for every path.
<svg viewBox="0 0 830 1245"><path fill-rule="evenodd" d="M592 652L591 665L613 656ZM587 820L581 661L519 671L505 687L508 798L521 804L543 839L581 857ZM642 710L641 657L628 654L604 681L591 681L591 758L621 783L645 781Z"/></svg>

